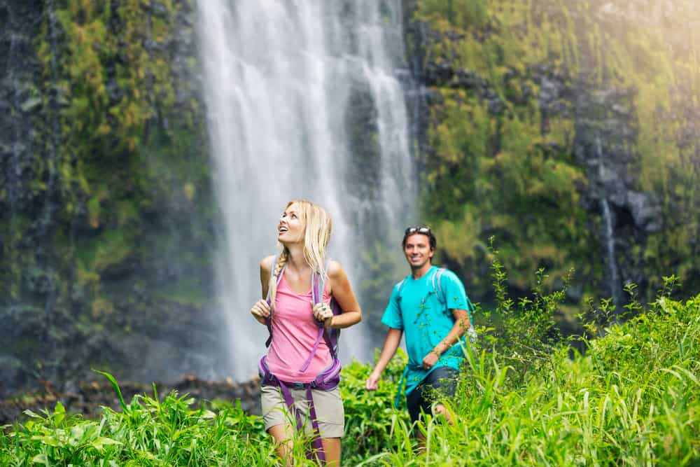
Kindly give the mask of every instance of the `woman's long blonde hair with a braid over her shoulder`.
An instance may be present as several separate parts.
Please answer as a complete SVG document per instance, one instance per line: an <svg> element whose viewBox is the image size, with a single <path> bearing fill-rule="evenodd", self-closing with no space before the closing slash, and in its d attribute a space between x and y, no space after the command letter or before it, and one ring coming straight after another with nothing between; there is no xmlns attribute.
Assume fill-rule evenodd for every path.
<svg viewBox="0 0 700 467"><path fill-rule="evenodd" d="M328 246L332 230L330 215L318 204L308 200L290 201L284 210L289 209L292 204L297 204L299 218L304 223L304 260L311 267L311 270L325 276L325 247ZM277 264L269 278L269 297L272 304L274 304L277 291L277 277L289 258L288 249L282 244L279 245L282 251L279 253Z"/></svg>

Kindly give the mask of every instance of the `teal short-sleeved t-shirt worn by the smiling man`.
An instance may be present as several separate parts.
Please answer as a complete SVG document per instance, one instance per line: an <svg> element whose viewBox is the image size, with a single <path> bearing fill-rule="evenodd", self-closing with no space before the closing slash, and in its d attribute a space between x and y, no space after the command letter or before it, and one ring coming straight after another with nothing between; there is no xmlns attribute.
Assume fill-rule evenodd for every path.
<svg viewBox="0 0 700 467"><path fill-rule="evenodd" d="M381 316L381 322L394 329L401 329L406 336L408 365L405 393L408 395L435 368L449 366L459 369L464 358L462 346L454 344L440 356L435 366L423 370L423 358L444 339L452 326L454 316L452 309L474 309L464 291L462 281L449 270L440 276L440 288L433 287L433 276L437 274L433 266L420 279L409 275L396 284L391 291L388 305ZM441 303L437 293L442 291ZM464 339L464 337L462 337Z"/></svg>

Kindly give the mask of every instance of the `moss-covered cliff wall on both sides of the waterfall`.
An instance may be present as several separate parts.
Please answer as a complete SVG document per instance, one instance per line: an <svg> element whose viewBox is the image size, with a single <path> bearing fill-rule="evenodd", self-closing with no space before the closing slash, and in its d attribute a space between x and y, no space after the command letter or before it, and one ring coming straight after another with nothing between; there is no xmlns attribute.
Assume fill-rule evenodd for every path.
<svg viewBox="0 0 700 467"><path fill-rule="evenodd" d="M94 378L90 365L217 375L195 13L193 0L0 0L0 396ZM543 291L575 269L556 309L568 332L587 300L626 302L608 242L619 288L638 284L642 302L668 274L679 296L698 290L693 0L405 0L404 14L421 216L473 300L497 301L491 235L514 298L540 267ZM377 331L404 273L390 256L367 246Z"/></svg>

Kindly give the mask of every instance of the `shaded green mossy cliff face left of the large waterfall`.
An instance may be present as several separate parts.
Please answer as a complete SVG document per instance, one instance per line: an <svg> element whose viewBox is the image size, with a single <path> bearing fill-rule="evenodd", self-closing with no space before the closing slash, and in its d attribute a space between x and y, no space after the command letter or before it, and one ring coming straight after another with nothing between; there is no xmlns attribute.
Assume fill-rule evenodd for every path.
<svg viewBox="0 0 700 467"><path fill-rule="evenodd" d="M175 63L193 55L190 8L57 0L36 11L36 154L31 190L14 187L28 212L0 223L10 385L84 377L85 361L127 366L120 335L157 334L138 316L211 303L216 208L197 64ZM24 351L28 335L37 344Z"/></svg>

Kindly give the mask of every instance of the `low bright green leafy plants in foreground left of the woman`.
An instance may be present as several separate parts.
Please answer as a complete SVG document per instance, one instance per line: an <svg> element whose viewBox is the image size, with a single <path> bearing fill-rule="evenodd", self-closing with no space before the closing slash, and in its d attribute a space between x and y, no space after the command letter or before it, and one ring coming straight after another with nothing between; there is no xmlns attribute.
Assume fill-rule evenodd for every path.
<svg viewBox="0 0 700 467"><path fill-rule="evenodd" d="M104 407L97 421L66 416L61 403L0 434L0 465L269 466L273 445L258 417L240 405L191 410L170 393L135 396L123 412Z"/></svg>

